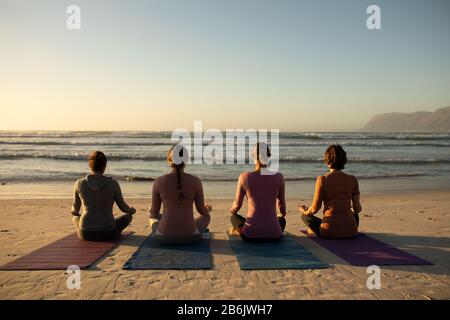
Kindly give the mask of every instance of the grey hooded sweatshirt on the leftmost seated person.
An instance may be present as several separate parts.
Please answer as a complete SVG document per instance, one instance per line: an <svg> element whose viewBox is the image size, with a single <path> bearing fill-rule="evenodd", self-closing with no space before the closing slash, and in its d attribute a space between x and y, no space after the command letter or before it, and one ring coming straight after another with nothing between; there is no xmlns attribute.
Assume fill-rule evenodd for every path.
<svg viewBox="0 0 450 320"><path fill-rule="evenodd" d="M83 207L78 226L81 230L114 230L114 202L121 211L131 213L131 208L123 200L119 183L113 178L90 174L75 182L72 214L79 215Z"/></svg>

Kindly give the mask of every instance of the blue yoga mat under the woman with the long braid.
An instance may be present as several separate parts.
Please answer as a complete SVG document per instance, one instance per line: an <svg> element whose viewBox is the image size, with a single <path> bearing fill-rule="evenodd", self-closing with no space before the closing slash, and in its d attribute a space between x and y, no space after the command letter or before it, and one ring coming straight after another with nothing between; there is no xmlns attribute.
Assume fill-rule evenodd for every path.
<svg viewBox="0 0 450 320"><path fill-rule="evenodd" d="M160 245L149 235L123 266L125 270L211 268L208 232L203 233L203 239L197 243L177 246Z"/></svg>

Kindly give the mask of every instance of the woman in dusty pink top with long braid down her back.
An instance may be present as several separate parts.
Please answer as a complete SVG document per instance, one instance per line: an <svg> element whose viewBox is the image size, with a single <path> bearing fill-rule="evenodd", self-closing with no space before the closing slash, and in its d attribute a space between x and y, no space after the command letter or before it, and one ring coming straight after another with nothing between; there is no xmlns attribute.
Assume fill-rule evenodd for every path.
<svg viewBox="0 0 450 320"><path fill-rule="evenodd" d="M199 178L184 172L187 149L174 145L167 154L172 172L153 183L150 226L163 244L189 244L202 239L211 220L212 207L205 205ZM160 214L161 203L163 214ZM193 204L200 214L194 219Z"/></svg>

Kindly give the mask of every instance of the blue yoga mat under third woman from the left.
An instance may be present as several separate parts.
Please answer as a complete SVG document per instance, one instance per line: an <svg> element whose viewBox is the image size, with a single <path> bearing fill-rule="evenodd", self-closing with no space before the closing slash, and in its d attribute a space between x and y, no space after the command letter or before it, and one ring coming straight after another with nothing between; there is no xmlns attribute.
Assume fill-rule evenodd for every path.
<svg viewBox="0 0 450 320"><path fill-rule="evenodd" d="M228 233L230 245L241 270L323 269L330 265L321 262L291 235L279 241L249 242Z"/></svg>

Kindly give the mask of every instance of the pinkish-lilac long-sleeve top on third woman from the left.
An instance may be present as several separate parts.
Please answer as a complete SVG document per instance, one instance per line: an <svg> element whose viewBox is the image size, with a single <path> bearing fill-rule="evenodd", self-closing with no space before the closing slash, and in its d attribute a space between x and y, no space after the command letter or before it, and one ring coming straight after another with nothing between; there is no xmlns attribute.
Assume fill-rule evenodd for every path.
<svg viewBox="0 0 450 320"><path fill-rule="evenodd" d="M241 232L248 238L280 237L282 231L276 207L278 205L281 215L286 215L283 175L279 172L262 175L259 171L242 173L239 176L231 213L238 213L245 196L248 200L248 211Z"/></svg>

